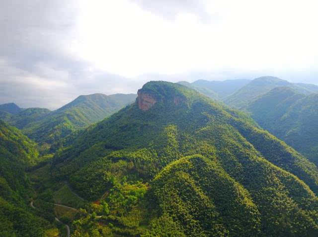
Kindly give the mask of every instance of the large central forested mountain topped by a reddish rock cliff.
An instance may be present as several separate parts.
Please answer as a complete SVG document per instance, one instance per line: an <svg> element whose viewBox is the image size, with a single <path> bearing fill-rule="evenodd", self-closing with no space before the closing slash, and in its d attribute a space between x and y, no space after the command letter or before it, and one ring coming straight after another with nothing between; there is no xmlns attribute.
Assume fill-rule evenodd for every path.
<svg viewBox="0 0 318 237"><path fill-rule="evenodd" d="M146 83L70 139L51 172L94 201L74 236L318 235L317 166L180 84Z"/></svg>

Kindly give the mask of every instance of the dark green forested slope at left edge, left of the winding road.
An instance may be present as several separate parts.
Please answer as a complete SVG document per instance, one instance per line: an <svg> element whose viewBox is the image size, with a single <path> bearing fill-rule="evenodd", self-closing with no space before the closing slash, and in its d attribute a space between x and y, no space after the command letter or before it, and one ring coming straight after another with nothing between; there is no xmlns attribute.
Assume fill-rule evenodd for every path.
<svg viewBox="0 0 318 237"><path fill-rule="evenodd" d="M56 232L29 207L32 188L25 169L38 158L36 144L0 121L0 236L49 236Z"/></svg>

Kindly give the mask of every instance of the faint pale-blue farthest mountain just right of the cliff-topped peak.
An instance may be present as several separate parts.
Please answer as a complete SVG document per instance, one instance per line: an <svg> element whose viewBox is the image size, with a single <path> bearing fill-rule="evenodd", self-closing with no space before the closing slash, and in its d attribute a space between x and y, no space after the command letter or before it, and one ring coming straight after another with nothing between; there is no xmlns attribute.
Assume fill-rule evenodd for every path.
<svg viewBox="0 0 318 237"><path fill-rule="evenodd" d="M235 80L196 80L192 83L187 81L179 81L179 84L183 84L190 88L193 88L200 93L212 98L221 100L235 91L246 85L250 80L248 79L235 79Z"/></svg>

